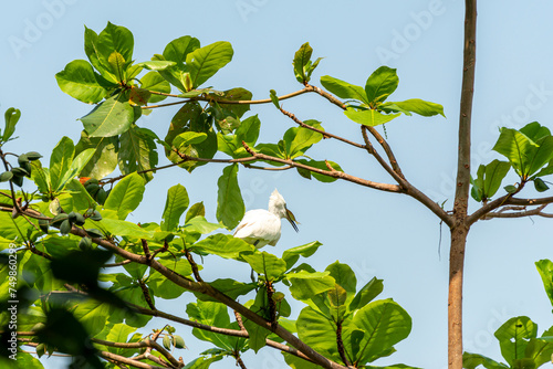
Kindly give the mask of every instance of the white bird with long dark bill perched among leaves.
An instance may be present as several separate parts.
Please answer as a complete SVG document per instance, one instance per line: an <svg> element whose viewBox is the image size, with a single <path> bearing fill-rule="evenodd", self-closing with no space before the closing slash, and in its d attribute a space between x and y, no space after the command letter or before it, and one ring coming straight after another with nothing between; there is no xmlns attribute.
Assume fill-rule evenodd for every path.
<svg viewBox="0 0 553 369"><path fill-rule="evenodd" d="M280 239L281 219L285 218L298 232L294 214L286 209L286 201L274 190L269 198L269 210L255 209L246 212L234 231L234 238L242 239L255 247L274 246Z"/></svg>

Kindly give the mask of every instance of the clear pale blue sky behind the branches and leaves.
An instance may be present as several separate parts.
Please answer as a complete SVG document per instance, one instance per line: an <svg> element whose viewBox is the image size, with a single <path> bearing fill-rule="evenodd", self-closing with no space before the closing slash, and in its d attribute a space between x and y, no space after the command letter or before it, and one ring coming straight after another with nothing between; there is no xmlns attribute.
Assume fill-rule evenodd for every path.
<svg viewBox="0 0 553 369"><path fill-rule="evenodd" d="M545 0L524 4L481 1L479 6L473 165L497 157L490 149L500 126L521 127L538 120L553 128L553 6ZM397 67L400 80L394 101L418 97L444 105L447 119L400 117L387 125L389 143L407 178L441 202L453 193L462 17L460 0L13 1L0 14L0 109L18 107L22 118L21 138L7 149L38 150L48 157L62 134L79 140L82 125L76 119L91 106L63 94L54 74L70 61L85 59L84 24L97 32L107 21L128 28L135 36L137 61L149 60L186 34L202 45L229 41L233 61L210 83L218 89L246 87L254 98L268 97L271 88L283 94L301 87L291 62L299 46L309 41L314 55L325 57L314 74L315 84L325 74L364 84L375 68L386 64ZM328 131L361 140L357 125L317 96L286 101L284 107L302 119L321 120ZM164 137L175 113L171 108L154 112L138 124ZM274 140L292 126L271 106L254 107L252 114L259 114L262 122L260 141ZM390 181L361 150L326 140L310 155L336 161L359 177ZM205 201L208 218L215 221L221 170L212 165L192 176L178 170L159 173L129 220L159 221L168 183L180 182L192 201ZM404 196L347 182L307 181L292 171L275 176L241 169L239 179L248 209L265 208L270 192L278 188L301 222L300 233L284 225L278 246L269 251L280 254L319 240L324 246L311 259L317 270L340 260L357 272L359 285L374 275L384 278L382 296L393 297L411 315L409 338L377 365L446 367L449 232L442 228L439 257L440 226L434 214ZM471 210L477 205L472 203ZM451 200L446 207L451 207ZM540 334L553 324L534 266L553 256L551 229L551 220L544 219L493 220L473 226L466 260L467 350L499 359L493 331L511 316L530 316L540 325ZM208 278L220 276L210 265L205 272ZM232 273L246 280L249 271ZM300 307L294 306L295 314ZM185 314L182 303L171 302L166 308ZM205 346L185 335L188 328L177 328L188 337L190 349L181 355L189 361ZM248 356L246 365L284 367L275 359L279 356L265 348L258 357ZM46 367L56 368L59 362ZM219 367L231 365L226 361Z"/></svg>

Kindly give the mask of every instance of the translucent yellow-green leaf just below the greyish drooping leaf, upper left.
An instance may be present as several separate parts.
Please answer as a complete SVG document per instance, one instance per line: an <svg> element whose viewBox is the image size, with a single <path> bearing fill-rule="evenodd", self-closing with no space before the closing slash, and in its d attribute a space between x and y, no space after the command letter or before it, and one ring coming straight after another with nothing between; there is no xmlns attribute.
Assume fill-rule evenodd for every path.
<svg viewBox="0 0 553 369"><path fill-rule="evenodd" d="M118 146L117 136L90 137L86 130L81 131L81 139L75 146L75 154L79 155L92 148L94 155L79 176L102 179L112 173L117 167Z"/></svg>

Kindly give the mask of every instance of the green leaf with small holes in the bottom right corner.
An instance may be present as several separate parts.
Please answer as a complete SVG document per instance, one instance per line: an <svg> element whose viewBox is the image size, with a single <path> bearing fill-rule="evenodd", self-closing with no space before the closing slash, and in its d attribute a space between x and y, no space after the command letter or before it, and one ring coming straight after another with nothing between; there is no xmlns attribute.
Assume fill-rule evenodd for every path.
<svg viewBox="0 0 553 369"><path fill-rule="evenodd" d="M501 347L501 355L509 365L514 360L524 358L524 350L529 338L535 338L538 335L538 325L529 317L519 316L507 320L495 330L495 338Z"/></svg>

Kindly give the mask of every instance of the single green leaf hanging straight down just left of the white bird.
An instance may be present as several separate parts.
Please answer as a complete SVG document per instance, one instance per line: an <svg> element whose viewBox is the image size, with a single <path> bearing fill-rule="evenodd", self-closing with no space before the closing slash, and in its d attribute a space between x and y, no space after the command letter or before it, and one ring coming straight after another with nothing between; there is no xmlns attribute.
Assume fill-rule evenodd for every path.
<svg viewBox="0 0 553 369"><path fill-rule="evenodd" d="M238 225L244 214L244 204L238 186L238 165L225 167L217 181L217 220L228 229Z"/></svg>

